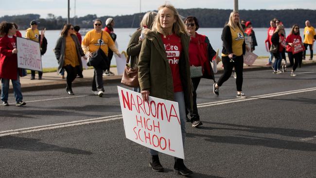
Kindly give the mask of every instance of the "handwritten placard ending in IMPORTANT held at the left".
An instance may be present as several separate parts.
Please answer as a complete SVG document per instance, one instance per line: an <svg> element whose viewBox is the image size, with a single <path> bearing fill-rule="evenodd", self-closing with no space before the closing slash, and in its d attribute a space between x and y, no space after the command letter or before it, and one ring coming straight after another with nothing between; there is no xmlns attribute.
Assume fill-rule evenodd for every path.
<svg viewBox="0 0 316 178"><path fill-rule="evenodd" d="M42 71L42 59L39 43L17 37L18 68Z"/></svg>

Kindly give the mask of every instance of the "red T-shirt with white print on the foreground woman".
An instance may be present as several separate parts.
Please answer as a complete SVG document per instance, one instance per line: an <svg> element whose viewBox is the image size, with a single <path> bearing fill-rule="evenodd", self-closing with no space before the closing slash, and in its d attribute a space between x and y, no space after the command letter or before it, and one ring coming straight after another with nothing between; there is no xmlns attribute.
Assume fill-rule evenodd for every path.
<svg viewBox="0 0 316 178"><path fill-rule="evenodd" d="M174 92L183 91L179 72L179 59L180 53L182 51L181 39L175 34L166 37L163 37L163 35L161 34L160 36L165 47L166 56L170 65L174 81Z"/></svg>

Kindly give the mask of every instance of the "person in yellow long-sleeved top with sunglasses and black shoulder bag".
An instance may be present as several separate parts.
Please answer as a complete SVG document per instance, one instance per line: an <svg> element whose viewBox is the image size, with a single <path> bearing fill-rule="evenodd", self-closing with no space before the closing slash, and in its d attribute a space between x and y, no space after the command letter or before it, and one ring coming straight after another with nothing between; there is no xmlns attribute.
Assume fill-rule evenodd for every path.
<svg viewBox="0 0 316 178"><path fill-rule="evenodd" d="M94 29L86 34L81 43L82 49L86 56L91 57L92 53L99 49L101 42L101 49L106 55L108 55L108 48L110 48L114 53L121 57L121 54L119 50L115 47L114 41L112 40L111 36L107 32L102 31L102 21L100 19L94 20L93 27ZM105 91L103 88L102 76L104 69L97 67L93 68L94 75L92 81L92 92L93 94L102 97Z"/></svg>

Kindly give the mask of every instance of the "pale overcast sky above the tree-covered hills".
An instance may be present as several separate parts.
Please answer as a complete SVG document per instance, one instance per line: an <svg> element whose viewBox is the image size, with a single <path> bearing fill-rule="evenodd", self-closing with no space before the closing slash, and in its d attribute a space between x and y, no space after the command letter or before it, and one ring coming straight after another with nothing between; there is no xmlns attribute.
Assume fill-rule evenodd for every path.
<svg viewBox="0 0 316 178"><path fill-rule="evenodd" d="M5 15L47 14L67 18L68 0L0 0L0 17ZM76 1L76 8L74 4ZM166 0L141 0L141 12L157 10ZM168 0L176 8L233 9L234 0ZM76 14L101 16L131 15L140 12L140 0L70 0L70 17ZM316 0L239 0L239 9L313 9ZM74 12L75 9L75 12Z"/></svg>

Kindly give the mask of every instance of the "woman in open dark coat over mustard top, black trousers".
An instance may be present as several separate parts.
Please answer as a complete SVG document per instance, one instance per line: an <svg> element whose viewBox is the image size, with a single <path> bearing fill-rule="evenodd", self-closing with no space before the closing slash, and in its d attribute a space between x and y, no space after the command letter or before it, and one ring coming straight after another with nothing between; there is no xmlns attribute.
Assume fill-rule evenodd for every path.
<svg viewBox="0 0 316 178"><path fill-rule="evenodd" d="M73 95L72 82L77 76L77 70L82 69L81 56L86 59L85 53L82 51L78 37L71 24L64 25L57 40L55 49L55 56L58 60L57 74L62 69L67 71L67 87L68 94Z"/></svg>

